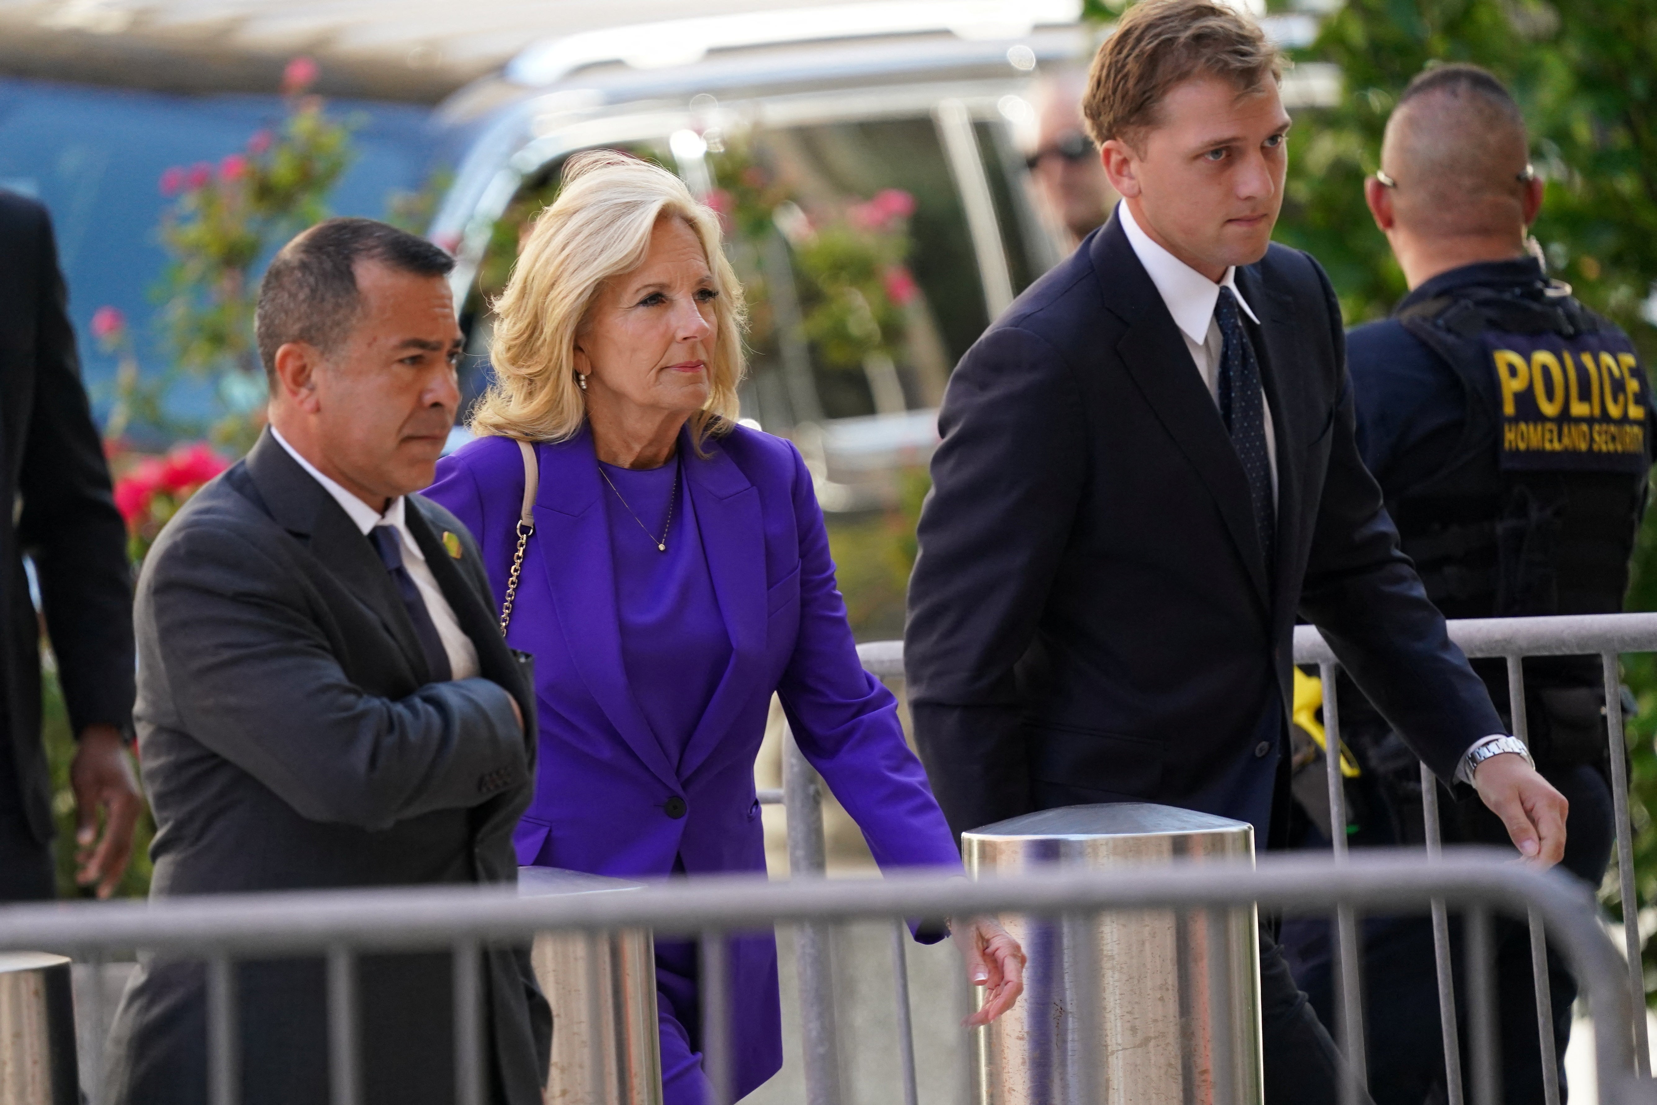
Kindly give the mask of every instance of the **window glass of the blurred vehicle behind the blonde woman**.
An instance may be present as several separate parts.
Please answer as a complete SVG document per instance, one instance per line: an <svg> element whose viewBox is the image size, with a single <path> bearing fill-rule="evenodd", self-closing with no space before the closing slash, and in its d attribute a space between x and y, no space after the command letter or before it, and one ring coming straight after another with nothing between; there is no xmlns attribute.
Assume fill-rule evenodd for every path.
<svg viewBox="0 0 1657 1105"><path fill-rule="evenodd" d="M630 147L673 164L666 149ZM936 408L988 325L966 217L926 116L779 128L716 139L708 156L726 249L751 306L744 417L800 422ZM467 310L487 356L486 303L519 237L557 195L562 161L495 227ZM484 386L474 371L467 391Z"/></svg>

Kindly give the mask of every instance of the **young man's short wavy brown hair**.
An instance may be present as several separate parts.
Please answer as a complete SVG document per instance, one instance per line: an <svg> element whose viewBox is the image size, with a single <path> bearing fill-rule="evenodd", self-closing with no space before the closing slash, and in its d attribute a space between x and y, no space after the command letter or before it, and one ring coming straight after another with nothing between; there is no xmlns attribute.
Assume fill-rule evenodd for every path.
<svg viewBox="0 0 1657 1105"><path fill-rule="evenodd" d="M1082 114L1104 146L1137 146L1162 98L1191 76L1218 76L1239 93L1283 78L1283 56L1259 23L1210 0L1145 0L1127 10L1087 75Z"/></svg>

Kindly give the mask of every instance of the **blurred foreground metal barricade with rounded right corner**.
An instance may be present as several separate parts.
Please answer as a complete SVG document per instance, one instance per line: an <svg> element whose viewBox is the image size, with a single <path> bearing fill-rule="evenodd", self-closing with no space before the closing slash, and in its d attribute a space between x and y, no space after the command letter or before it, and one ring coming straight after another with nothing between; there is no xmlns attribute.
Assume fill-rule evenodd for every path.
<svg viewBox="0 0 1657 1105"><path fill-rule="evenodd" d="M477 1100L481 1042L477 954L484 946L527 943L543 931L603 933L648 928L698 938L703 977L724 976L724 938L769 931L777 924L833 926L900 918L961 918L1019 913L1090 923L1117 910L1193 910L1259 903L1296 913L1385 910L1427 911L1432 903L1468 911L1473 921L1473 1006L1493 1001L1488 969L1478 969L1478 934L1493 913L1534 916L1564 956L1592 1011L1599 1100L1606 1105L1657 1102L1652 1083L1635 1075L1632 1035L1617 1032L1634 1019L1622 984L1622 959L1597 921L1592 896L1572 880L1500 861L1491 850L1452 850L1435 863L1412 853L1350 856L1266 856L1246 863L1176 863L1110 871L1052 870L968 881L936 873L898 873L885 880L787 880L716 876L671 880L626 895L519 898L512 888L408 888L326 893L215 895L151 903L25 905L0 911L0 951L45 949L81 961L126 949L205 959L209 977L209 1082L214 1105L239 1100L234 1040L237 1001L232 966L239 958L320 956L328 961L331 1105L360 1100L361 1039L351 971L365 953L451 949L457 1100ZM1486 938L1488 948L1488 938ZM704 986L704 1070L726 1105L731 1087L729 994ZM1079 1016L1097 1016L1080 1011ZM1094 1034L1082 1034L1075 1059L1100 1069ZM1493 1040L1473 1032L1475 1100L1495 1102ZM1480 1074L1486 1072L1486 1074ZM94 1095L96 1100L96 1095ZM1079 1098L1077 1105L1080 1105ZM1089 1100L1090 1105L1090 1100Z"/></svg>

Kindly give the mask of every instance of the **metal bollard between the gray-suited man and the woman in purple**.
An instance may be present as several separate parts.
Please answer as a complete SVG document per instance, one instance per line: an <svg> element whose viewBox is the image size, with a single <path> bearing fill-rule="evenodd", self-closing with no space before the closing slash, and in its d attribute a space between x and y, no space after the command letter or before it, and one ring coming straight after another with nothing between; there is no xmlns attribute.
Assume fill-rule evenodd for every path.
<svg viewBox="0 0 1657 1105"><path fill-rule="evenodd" d="M519 868L519 895L593 895L638 883L545 866ZM656 951L650 929L540 933L530 951L552 1002L547 1105L661 1105Z"/></svg>

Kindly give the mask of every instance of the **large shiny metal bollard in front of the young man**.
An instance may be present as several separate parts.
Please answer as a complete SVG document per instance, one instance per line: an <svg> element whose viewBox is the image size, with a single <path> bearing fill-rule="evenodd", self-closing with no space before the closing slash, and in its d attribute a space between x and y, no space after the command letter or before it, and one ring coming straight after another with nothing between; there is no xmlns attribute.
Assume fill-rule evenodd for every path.
<svg viewBox="0 0 1657 1105"><path fill-rule="evenodd" d="M973 878L1036 866L1253 858L1246 822L1167 805L1072 805L961 835ZM974 1105L1258 1105L1253 906L1002 916L1029 964L978 1029Z"/></svg>

